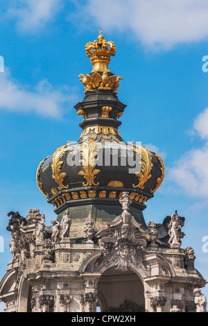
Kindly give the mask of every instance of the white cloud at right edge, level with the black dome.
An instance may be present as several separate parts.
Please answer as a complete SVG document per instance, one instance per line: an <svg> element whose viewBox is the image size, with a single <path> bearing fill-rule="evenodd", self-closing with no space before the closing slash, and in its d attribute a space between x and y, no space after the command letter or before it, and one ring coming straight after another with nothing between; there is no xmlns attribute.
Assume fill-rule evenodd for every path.
<svg viewBox="0 0 208 326"><path fill-rule="evenodd" d="M196 117L193 130L205 139L201 148L193 148L180 157L171 169L168 180L179 186L186 194L200 198L208 196L208 108Z"/></svg>

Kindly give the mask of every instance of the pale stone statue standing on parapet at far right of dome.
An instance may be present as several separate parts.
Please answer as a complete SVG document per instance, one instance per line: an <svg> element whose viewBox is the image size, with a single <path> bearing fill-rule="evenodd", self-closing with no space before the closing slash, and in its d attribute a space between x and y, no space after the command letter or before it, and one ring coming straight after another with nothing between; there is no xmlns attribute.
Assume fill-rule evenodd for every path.
<svg viewBox="0 0 208 326"><path fill-rule="evenodd" d="M175 214L171 215L171 223L168 224L168 234L171 248L180 248L181 240L184 237L184 233L181 232L182 226L184 226L184 217L178 216L177 211Z"/></svg>

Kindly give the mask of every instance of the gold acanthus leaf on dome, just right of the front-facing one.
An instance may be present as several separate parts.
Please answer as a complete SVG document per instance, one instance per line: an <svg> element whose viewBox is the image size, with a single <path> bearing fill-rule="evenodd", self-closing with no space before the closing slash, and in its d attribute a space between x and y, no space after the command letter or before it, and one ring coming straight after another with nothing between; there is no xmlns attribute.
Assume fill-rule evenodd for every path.
<svg viewBox="0 0 208 326"><path fill-rule="evenodd" d="M144 189L145 182L151 178L150 171L153 167L153 163L151 160L150 151L148 151L144 146L135 145L133 142L133 146L135 146L134 151L139 154L141 171L136 172L137 178L139 179L139 183L137 185L132 185L133 188Z"/></svg>

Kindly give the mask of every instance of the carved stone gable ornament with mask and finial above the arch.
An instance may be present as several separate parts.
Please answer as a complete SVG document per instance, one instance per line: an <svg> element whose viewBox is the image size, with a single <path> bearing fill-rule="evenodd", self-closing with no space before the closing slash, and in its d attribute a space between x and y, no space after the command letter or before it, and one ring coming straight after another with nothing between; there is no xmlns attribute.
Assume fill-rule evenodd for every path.
<svg viewBox="0 0 208 326"><path fill-rule="evenodd" d="M103 266L128 271L129 266L138 268L141 264L141 252L150 241L150 235L141 231L141 224L128 212L131 202L128 192L124 191L120 198L123 208L121 216L109 223L107 229L96 233L95 237L103 250L101 257L90 267L93 271L100 271Z"/></svg>

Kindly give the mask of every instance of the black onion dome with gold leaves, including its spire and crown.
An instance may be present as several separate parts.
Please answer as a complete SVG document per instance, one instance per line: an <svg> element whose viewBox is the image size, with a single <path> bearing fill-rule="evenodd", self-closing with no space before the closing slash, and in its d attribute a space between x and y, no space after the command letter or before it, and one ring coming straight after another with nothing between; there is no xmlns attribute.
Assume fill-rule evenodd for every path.
<svg viewBox="0 0 208 326"><path fill-rule="evenodd" d="M74 213L74 237L82 234L86 214L94 215L97 223L98 212L103 214L102 223L117 216L123 191L130 193L134 216L146 228L142 210L162 184L164 162L148 148L134 141L126 143L119 133L119 119L126 105L116 95L122 78L117 78L107 66L110 55L115 54L114 43L106 42L100 33L98 41L87 44L86 51L93 69L87 76L79 75L85 85L85 98L75 105L77 114L83 117L83 132L75 144L68 141L42 160L37 169L37 185L48 203L55 206L58 218L65 209L76 211L79 207ZM82 211L89 205L91 209Z"/></svg>

